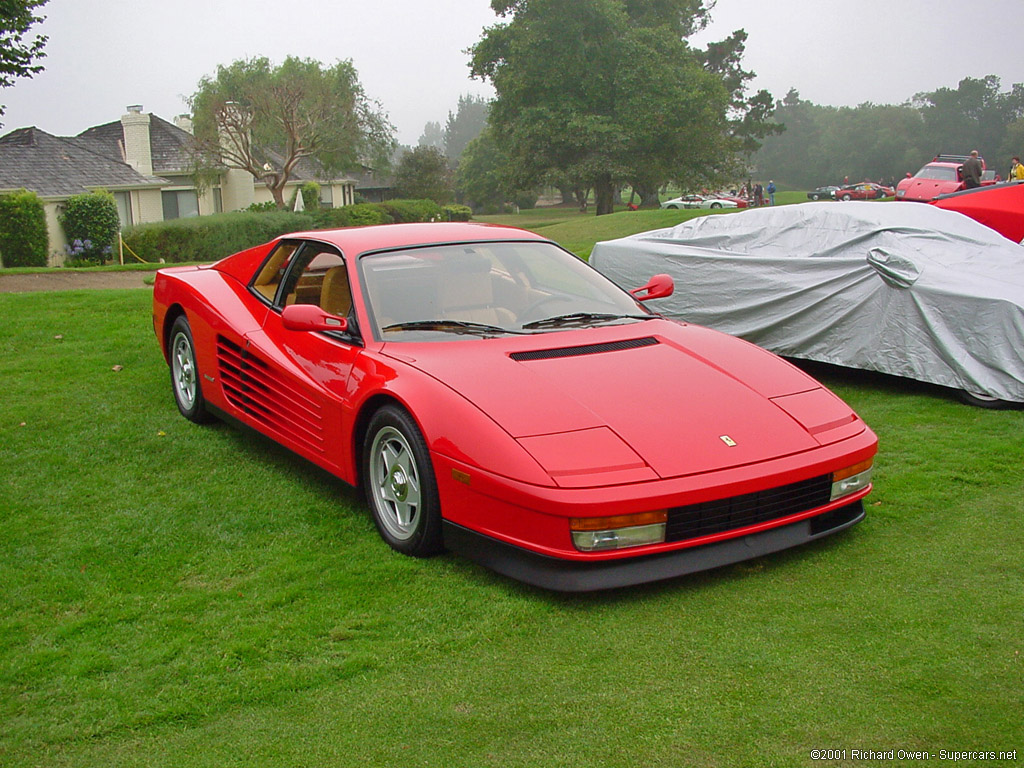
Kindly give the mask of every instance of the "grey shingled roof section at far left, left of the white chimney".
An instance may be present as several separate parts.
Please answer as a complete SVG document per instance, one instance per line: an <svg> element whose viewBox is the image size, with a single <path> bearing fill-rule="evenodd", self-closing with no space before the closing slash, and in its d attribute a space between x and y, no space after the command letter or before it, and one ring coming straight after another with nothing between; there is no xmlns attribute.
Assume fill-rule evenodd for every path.
<svg viewBox="0 0 1024 768"><path fill-rule="evenodd" d="M25 187L43 198L68 198L96 187L140 188L166 184L76 138L36 127L0 136L0 189Z"/></svg>

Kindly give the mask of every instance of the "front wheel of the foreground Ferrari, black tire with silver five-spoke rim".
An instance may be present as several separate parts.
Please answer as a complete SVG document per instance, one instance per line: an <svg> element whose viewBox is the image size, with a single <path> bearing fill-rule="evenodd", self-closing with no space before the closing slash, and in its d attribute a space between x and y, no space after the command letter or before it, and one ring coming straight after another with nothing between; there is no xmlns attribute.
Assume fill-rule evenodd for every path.
<svg viewBox="0 0 1024 768"><path fill-rule="evenodd" d="M377 530L391 549L413 557L443 551L430 452L413 417L396 406L384 406L370 420L362 484Z"/></svg>

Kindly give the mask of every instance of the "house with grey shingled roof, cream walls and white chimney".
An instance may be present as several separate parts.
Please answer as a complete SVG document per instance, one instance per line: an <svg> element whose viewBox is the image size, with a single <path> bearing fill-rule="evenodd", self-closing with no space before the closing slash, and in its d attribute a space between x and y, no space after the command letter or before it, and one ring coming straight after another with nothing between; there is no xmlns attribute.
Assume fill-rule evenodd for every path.
<svg viewBox="0 0 1024 768"><path fill-rule="evenodd" d="M186 116L170 123L133 105L120 120L77 136L54 136L35 127L11 131L0 136L0 195L24 187L42 198L51 265L63 262L66 240L57 216L75 195L112 193L122 226L239 211L273 200L263 183L237 169L223 169L200 191L189 170L190 129ZM273 157L269 150L266 154ZM325 178L308 159L296 166L286 199L307 181L321 185L325 207L355 202L354 179Z"/></svg>

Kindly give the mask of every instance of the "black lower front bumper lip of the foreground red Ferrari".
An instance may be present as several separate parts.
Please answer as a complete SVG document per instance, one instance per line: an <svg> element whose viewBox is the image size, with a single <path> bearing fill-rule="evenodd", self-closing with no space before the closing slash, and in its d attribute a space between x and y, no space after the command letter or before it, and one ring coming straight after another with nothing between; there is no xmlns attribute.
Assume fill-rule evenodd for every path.
<svg viewBox="0 0 1024 768"><path fill-rule="evenodd" d="M757 534L659 554L600 561L549 557L443 521L444 545L520 582L559 592L591 592L731 565L845 530L864 519L858 500L798 522Z"/></svg>

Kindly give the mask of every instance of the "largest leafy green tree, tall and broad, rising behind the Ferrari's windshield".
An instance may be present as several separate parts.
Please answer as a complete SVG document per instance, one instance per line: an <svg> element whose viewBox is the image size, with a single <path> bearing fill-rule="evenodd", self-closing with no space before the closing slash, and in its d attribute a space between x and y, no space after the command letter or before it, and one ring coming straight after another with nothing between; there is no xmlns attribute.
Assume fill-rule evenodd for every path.
<svg viewBox="0 0 1024 768"><path fill-rule="evenodd" d="M735 155L757 144L764 97L753 105L740 97L745 36L715 56L685 41L707 23L702 0L493 0L492 8L510 20L485 30L471 70L497 91L490 124L516 187L553 177L593 187L600 215L611 212L616 183L631 181L649 203L672 179L725 180Z"/></svg>

